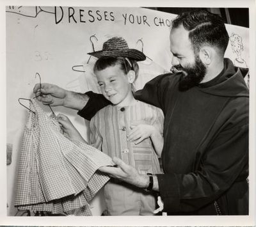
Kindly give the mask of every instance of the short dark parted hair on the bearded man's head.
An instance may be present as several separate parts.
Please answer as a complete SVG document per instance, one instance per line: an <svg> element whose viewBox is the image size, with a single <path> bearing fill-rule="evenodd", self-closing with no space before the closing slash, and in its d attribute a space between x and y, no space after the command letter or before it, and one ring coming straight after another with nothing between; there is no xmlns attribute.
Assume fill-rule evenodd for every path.
<svg viewBox="0 0 256 227"><path fill-rule="evenodd" d="M225 24L220 16L207 10L184 12L172 21L172 28L180 25L189 31L189 40L195 54L198 54L202 45L217 47L224 56L229 36Z"/></svg>

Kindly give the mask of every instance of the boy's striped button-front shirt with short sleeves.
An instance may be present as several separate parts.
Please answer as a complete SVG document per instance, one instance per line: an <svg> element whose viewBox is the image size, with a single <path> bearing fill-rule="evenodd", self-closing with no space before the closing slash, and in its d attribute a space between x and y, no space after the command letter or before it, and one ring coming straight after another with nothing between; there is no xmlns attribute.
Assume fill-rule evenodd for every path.
<svg viewBox="0 0 256 227"><path fill-rule="evenodd" d="M159 160L150 138L138 145L127 141L130 126L154 125L163 133L164 115L161 109L140 102L132 106L106 106L90 121L90 144L110 157L118 157L140 173L161 173Z"/></svg>

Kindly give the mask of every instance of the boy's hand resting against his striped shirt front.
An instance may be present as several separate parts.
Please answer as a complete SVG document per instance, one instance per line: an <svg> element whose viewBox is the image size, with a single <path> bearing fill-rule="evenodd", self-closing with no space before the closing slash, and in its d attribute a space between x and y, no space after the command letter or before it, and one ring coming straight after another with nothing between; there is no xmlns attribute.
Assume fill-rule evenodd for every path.
<svg viewBox="0 0 256 227"><path fill-rule="evenodd" d="M135 141L136 145L156 132L156 128L153 125L131 125L130 128L131 132L127 135L127 141Z"/></svg>

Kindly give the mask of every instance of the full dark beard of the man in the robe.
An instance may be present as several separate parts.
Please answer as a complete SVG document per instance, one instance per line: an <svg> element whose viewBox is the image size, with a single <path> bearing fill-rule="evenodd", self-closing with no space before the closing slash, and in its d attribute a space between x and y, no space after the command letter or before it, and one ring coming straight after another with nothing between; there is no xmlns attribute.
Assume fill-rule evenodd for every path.
<svg viewBox="0 0 256 227"><path fill-rule="evenodd" d="M181 67L181 65L179 65L175 68L180 70L179 74L181 74L179 80L180 91L186 91L198 85L206 74L206 67L198 56L196 56L193 66Z"/></svg>

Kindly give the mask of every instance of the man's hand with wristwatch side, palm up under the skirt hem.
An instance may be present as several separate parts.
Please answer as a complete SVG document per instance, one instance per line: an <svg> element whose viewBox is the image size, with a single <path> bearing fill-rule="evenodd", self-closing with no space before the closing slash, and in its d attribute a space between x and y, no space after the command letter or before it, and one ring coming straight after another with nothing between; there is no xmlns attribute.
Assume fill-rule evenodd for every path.
<svg viewBox="0 0 256 227"><path fill-rule="evenodd" d="M148 187L149 179L147 175L141 175L135 168L125 164L125 162L117 157L113 158L113 162L115 162L118 167L102 166L99 170L108 173L108 175L113 178L135 185L136 187Z"/></svg>

